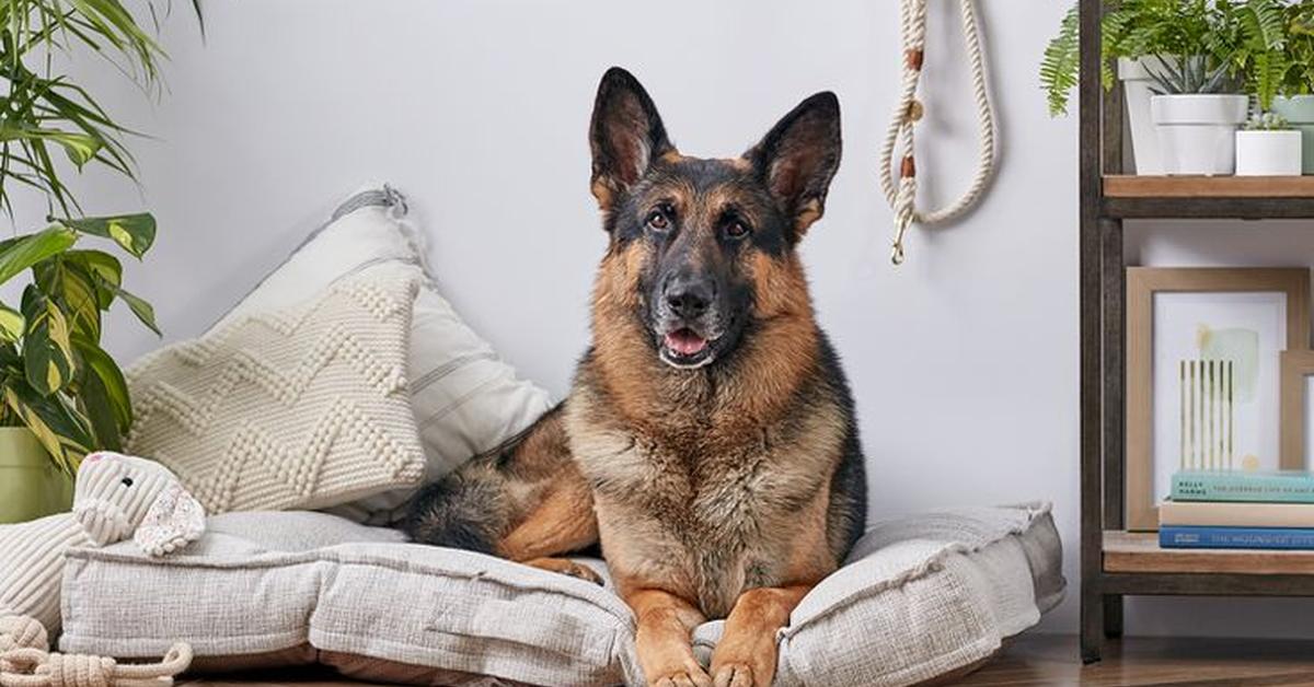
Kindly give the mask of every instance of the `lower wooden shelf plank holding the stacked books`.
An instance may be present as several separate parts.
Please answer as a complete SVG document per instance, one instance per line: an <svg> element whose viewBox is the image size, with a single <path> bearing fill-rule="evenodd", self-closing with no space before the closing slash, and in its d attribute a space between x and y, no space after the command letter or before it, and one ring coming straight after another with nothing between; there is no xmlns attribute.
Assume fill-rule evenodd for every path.
<svg viewBox="0 0 1314 687"><path fill-rule="evenodd" d="M1105 573L1314 575L1314 552L1162 549L1154 532L1104 532Z"/></svg>

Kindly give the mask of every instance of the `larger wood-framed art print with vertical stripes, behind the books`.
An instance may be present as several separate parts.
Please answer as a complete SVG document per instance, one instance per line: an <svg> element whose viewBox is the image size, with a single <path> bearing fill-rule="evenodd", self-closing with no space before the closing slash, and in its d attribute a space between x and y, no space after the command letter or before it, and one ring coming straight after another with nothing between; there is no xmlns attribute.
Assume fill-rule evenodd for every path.
<svg viewBox="0 0 1314 687"><path fill-rule="evenodd" d="M1129 529L1156 529L1172 473L1272 470L1282 351L1309 347L1309 269L1127 269Z"/></svg>

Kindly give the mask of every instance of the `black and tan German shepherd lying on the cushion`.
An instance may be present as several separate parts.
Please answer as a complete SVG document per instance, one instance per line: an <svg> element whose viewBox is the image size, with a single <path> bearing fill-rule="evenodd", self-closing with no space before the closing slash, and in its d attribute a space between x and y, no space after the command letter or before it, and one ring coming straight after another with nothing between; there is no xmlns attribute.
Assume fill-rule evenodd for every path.
<svg viewBox="0 0 1314 687"><path fill-rule="evenodd" d="M627 71L590 126L607 252L566 401L413 500L415 541L597 581L600 543L649 684L767 686L775 632L866 519L853 401L796 247L840 164L804 100L735 159L681 155ZM706 671L690 633L725 617Z"/></svg>

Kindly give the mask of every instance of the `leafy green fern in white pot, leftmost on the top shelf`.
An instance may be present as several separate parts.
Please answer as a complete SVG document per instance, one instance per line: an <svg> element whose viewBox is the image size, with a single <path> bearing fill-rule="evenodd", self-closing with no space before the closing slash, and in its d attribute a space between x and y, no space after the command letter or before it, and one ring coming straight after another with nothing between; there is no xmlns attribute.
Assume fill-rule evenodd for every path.
<svg viewBox="0 0 1314 687"><path fill-rule="evenodd" d="M1101 79L1106 89L1114 87L1114 74L1122 84L1135 173L1166 171L1150 112L1150 100L1159 87L1154 74L1179 71L1183 58L1194 63L1213 55L1217 17L1215 8L1206 0L1123 0L1104 14ZM1041 87L1046 91L1050 114L1067 112L1070 93L1077 83L1077 8L1074 5L1041 62Z"/></svg>

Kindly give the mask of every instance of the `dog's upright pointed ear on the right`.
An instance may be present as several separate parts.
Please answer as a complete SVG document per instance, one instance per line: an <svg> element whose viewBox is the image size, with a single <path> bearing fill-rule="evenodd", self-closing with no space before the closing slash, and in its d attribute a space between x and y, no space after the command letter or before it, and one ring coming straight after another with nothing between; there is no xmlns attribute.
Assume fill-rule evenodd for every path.
<svg viewBox="0 0 1314 687"><path fill-rule="evenodd" d="M795 240L825 211L841 148L840 100L827 91L800 102L744 154L792 218Z"/></svg>

